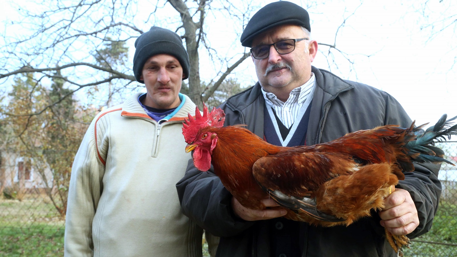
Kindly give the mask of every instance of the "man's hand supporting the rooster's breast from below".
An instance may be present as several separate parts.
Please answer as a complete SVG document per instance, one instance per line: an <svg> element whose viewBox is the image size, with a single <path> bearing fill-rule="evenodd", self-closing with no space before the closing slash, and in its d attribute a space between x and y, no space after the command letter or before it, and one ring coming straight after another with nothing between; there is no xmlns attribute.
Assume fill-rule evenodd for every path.
<svg viewBox="0 0 457 257"><path fill-rule="evenodd" d="M260 200L263 205L265 205L265 209L262 210L255 210L249 209L241 205L238 200L232 197L232 209L234 214L246 221L255 221L255 220L269 220L273 218L282 217L287 214L285 209L269 209L269 207L276 207L279 206L273 199L271 198L263 198Z"/></svg>

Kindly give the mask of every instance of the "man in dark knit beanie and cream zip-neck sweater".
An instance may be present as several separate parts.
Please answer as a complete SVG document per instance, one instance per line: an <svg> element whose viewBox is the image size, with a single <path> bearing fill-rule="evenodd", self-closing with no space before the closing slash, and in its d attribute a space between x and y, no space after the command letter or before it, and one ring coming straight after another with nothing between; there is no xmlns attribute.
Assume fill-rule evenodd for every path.
<svg viewBox="0 0 457 257"><path fill-rule="evenodd" d="M189 59L181 37L152 27L135 42L133 72L146 87L90 124L74 158L65 256L201 257L202 229L181 212L175 184L191 158L181 93Z"/></svg>

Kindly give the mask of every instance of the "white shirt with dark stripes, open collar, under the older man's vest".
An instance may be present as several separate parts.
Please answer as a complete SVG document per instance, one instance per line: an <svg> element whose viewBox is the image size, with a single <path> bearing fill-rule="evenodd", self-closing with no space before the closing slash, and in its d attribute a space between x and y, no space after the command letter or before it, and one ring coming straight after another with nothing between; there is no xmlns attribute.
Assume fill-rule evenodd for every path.
<svg viewBox="0 0 457 257"><path fill-rule="evenodd" d="M302 86L294 88L286 102L279 100L275 94L267 93L262 88L262 94L268 106L276 112L276 116L281 120L286 128L290 128L297 118L297 114L303 107L303 103L308 98L314 88L314 73L311 72L311 78Z"/></svg>

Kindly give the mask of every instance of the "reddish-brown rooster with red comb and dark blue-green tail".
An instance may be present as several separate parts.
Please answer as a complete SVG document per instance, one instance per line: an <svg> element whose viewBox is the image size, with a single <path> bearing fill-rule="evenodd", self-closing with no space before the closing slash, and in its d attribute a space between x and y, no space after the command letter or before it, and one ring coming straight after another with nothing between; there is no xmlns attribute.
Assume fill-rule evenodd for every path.
<svg viewBox="0 0 457 257"><path fill-rule="evenodd" d="M443 115L425 132L426 124L414 128L385 125L346 134L327 143L282 147L271 145L243 125L223 127L224 113L213 108L183 124L188 144L194 151L194 166L214 172L244 207L265 209L260 202L270 196L287 210L290 220L313 225L350 225L381 210L404 172L414 171L415 162L447 162L444 152L433 146L436 139L457 134ZM243 145L243 147L239 147ZM453 164L452 164L453 165ZM385 230L394 251L402 256L409 247L406 236Z"/></svg>

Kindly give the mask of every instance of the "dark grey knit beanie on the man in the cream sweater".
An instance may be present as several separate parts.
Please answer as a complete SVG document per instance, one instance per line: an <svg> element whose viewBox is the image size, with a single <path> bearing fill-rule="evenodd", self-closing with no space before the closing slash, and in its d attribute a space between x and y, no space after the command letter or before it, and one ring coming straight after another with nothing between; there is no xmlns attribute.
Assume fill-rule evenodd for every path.
<svg viewBox="0 0 457 257"><path fill-rule="evenodd" d="M161 27L151 27L148 32L141 34L135 41L135 55L133 56L133 73L135 79L140 80L144 63L156 54L170 54L178 59L184 73L183 80L189 77L189 56L182 45L182 39L171 30Z"/></svg>

